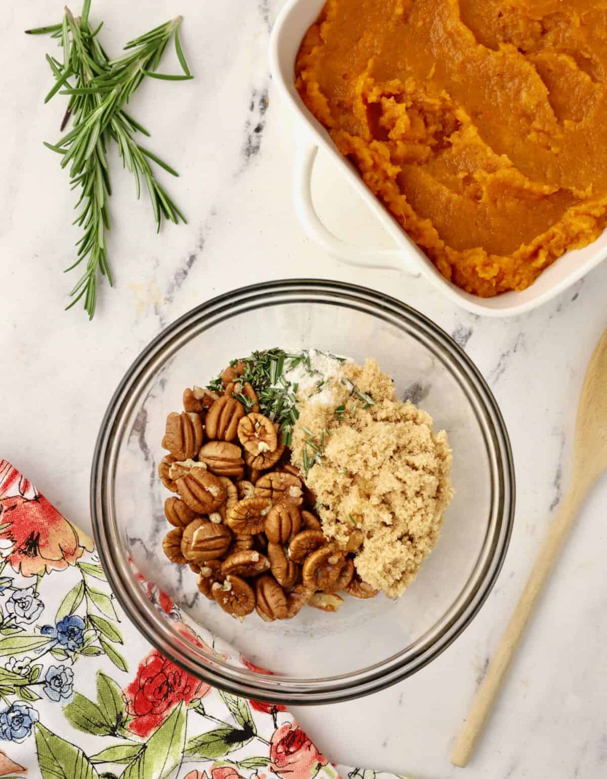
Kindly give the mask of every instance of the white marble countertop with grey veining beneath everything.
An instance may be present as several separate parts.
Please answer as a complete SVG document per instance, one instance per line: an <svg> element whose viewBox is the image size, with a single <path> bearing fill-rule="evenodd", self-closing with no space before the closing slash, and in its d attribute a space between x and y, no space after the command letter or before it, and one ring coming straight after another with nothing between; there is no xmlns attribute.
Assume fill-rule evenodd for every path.
<svg viewBox="0 0 607 779"><path fill-rule="evenodd" d="M475 759L462 771L448 755L566 487L577 396L607 327L607 263L531 315L485 320L425 280L330 259L306 240L291 202L295 132L266 58L281 0L94 0L108 41L185 16L182 41L196 79L146 84L133 111L153 131L150 147L182 174L168 185L189 224L157 236L148 204L135 202L132 181L112 159L115 289L101 287L93 323L79 310L64 313L76 278L61 271L78 232L69 227L65 171L42 146L58 139L62 106L43 105L51 42L22 32L54 22L61 6L19 0L0 18L2 456L90 527L89 469L102 414L126 368L167 323L236 285L281 277L340 279L401 298L453 334L501 405L517 467L510 552L480 615L428 668L364 701L298 717L331 760L418 779L604 777L605 483L584 506ZM330 162L319 160L315 186L319 212L337 234L390 245Z"/></svg>

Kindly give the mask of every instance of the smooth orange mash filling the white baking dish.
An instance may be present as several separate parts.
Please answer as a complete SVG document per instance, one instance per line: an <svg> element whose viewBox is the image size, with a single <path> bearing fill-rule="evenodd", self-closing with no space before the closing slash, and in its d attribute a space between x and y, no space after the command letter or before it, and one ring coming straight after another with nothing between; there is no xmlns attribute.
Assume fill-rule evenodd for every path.
<svg viewBox="0 0 607 779"><path fill-rule="evenodd" d="M605 0L328 0L295 76L469 292L523 290L607 223Z"/></svg>

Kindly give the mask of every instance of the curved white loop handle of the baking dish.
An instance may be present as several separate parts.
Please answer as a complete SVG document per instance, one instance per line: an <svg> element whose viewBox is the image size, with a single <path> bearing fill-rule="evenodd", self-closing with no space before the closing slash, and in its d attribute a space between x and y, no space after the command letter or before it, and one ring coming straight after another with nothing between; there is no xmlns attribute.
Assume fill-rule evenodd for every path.
<svg viewBox="0 0 607 779"><path fill-rule="evenodd" d="M418 270L408 268L402 249L361 249L337 238L319 219L312 200L312 169L318 146L300 138L295 157L295 212L305 233L327 254L343 263L371 270L397 270L417 276Z"/></svg>

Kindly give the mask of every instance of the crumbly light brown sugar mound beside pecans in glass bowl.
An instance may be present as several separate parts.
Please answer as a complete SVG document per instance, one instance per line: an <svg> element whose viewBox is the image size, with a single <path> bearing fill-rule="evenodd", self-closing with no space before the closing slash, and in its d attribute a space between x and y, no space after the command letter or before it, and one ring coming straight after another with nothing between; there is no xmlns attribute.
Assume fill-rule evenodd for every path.
<svg viewBox="0 0 607 779"><path fill-rule="evenodd" d="M362 537L358 573L398 597L438 541L453 495L451 449L446 432L433 432L429 414L397 400L392 380L375 361L348 363L343 372L355 393L349 382L337 380L333 404L299 405L292 462L305 468L312 432L323 454L305 483L316 493L326 537L341 548L354 534ZM368 407L365 395L373 400ZM342 405L343 413L336 412Z"/></svg>

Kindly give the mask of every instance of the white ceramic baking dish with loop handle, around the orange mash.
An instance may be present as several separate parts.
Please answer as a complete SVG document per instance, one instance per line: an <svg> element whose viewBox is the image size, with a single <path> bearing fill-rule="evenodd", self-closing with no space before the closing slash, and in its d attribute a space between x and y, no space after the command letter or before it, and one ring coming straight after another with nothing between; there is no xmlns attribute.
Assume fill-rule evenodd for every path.
<svg viewBox="0 0 607 779"><path fill-rule="evenodd" d="M522 314L542 305L570 287L607 256L607 231L585 249L566 252L523 292L506 292L496 298L478 298L447 281L401 229L379 200L367 189L348 160L337 151L329 134L310 114L295 89L294 64L299 44L308 27L319 16L325 0L288 0L278 16L270 38L270 69L278 91L295 112L301 138L295 164L295 207L302 227L331 256L345 263L371 268L397 267L421 273L434 286L468 311L485 316ZM345 243L330 233L319 219L311 196L312 167L322 148L396 241L396 249L365 249L355 242ZM355 236L353 237L355 238Z"/></svg>

